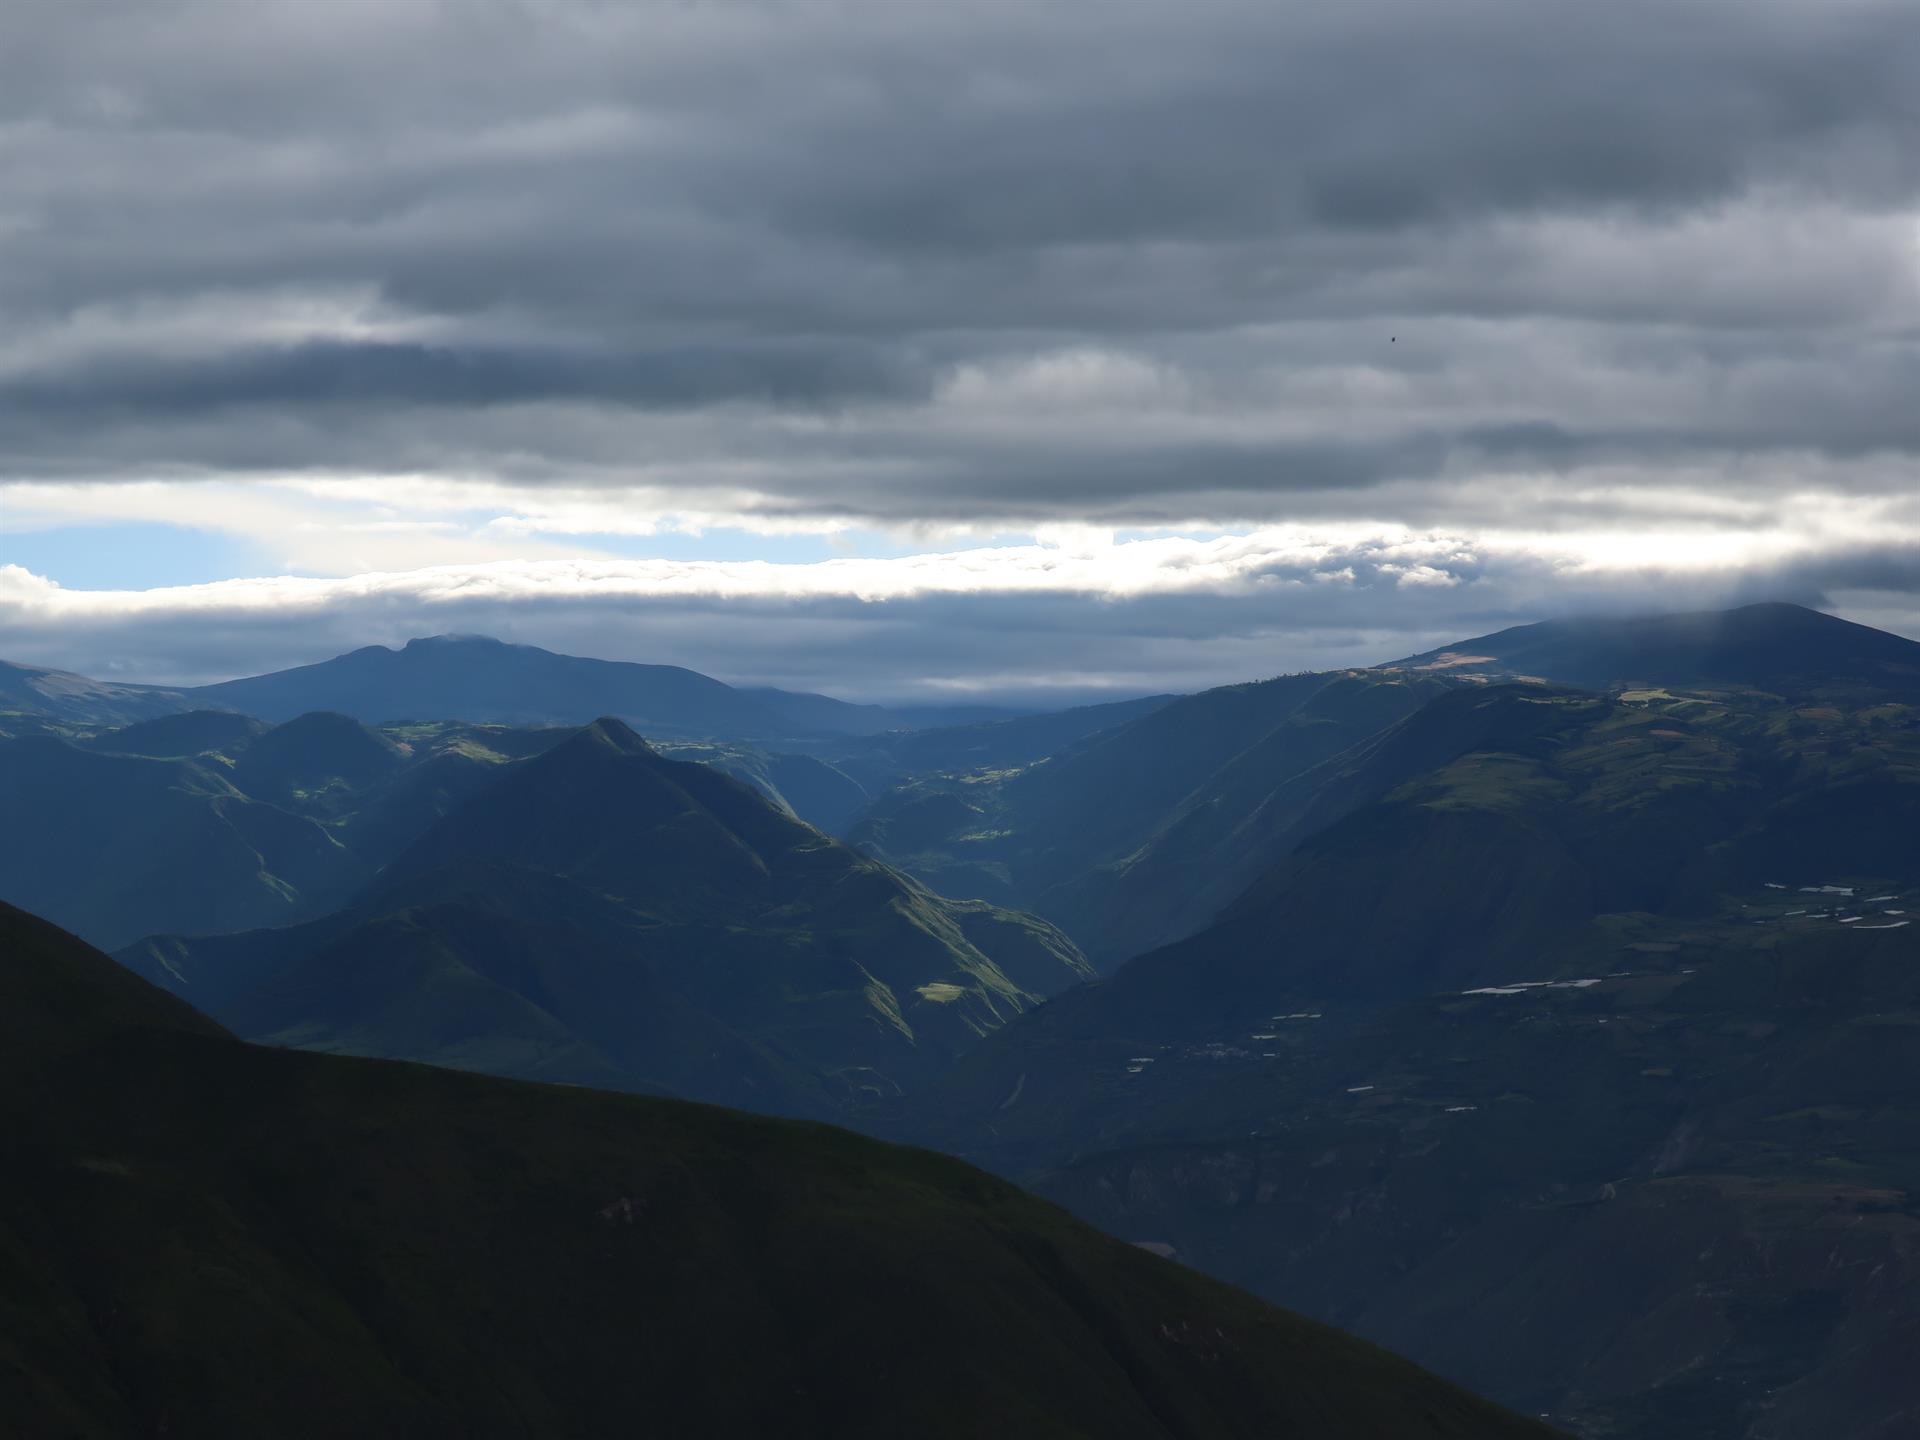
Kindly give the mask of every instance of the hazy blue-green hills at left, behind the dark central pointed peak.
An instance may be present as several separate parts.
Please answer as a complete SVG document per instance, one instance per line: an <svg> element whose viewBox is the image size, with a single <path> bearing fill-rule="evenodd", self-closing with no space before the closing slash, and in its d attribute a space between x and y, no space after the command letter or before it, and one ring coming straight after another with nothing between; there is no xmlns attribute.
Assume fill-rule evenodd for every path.
<svg viewBox="0 0 1920 1440"><path fill-rule="evenodd" d="M102 945L324 914L566 730L188 712L90 739L0 737L0 897ZM140 756L175 751L190 758Z"/></svg>

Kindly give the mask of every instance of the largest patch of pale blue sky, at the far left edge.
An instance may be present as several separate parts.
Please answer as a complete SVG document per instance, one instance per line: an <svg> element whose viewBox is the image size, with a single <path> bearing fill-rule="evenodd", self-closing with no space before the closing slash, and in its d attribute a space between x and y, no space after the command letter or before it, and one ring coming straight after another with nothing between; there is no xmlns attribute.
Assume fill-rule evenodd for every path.
<svg viewBox="0 0 1920 1440"><path fill-rule="evenodd" d="M12 530L0 520L0 564L19 564L67 589L198 586L257 570L244 540L154 520Z"/></svg>

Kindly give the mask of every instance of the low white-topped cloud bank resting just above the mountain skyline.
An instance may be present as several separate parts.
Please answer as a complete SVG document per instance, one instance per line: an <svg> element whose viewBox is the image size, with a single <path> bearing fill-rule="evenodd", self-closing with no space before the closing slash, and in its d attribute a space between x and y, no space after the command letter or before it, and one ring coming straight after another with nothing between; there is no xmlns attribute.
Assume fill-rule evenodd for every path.
<svg viewBox="0 0 1920 1440"><path fill-rule="evenodd" d="M814 564L497 561L148 591L67 591L0 566L0 632L13 659L131 680L486 632L860 699L1044 703L1371 664L1582 611L1786 597L1920 634L1916 576L1920 551L1874 543L1701 566L1407 532L1085 534Z"/></svg>

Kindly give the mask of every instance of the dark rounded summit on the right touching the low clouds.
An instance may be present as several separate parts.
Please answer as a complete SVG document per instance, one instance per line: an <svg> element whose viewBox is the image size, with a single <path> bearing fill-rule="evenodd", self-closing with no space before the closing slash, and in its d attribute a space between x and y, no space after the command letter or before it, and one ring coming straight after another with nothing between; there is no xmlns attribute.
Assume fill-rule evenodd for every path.
<svg viewBox="0 0 1920 1440"><path fill-rule="evenodd" d="M1920 691L1920 641L1801 605L1743 605L1628 620L1548 620L1413 655L1392 668L1523 674L1586 689L1870 685L1910 695Z"/></svg>

